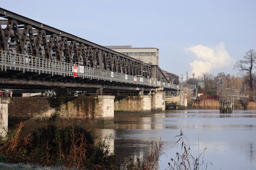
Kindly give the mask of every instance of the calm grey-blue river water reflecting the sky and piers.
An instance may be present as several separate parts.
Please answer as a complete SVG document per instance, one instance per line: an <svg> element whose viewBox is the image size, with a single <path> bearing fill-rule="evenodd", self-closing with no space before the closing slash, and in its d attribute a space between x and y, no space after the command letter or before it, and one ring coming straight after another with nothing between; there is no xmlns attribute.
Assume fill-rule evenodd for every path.
<svg viewBox="0 0 256 170"><path fill-rule="evenodd" d="M166 169L176 153L182 153L175 137L182 130L191 154L201 154L207 169L256 169L256 111L234 111L220 114L218 110L166 111L155 114L115 114L113 122L105 123L93 133L112 135L110 148L117 160L145 159L160 138L162 142L159 169ZM187 140L186 140L187 139ZM202 161L202 160L201 160ZM190 162L191 163L191 162ZM205 167L205 166L204 166Z"/></svg>

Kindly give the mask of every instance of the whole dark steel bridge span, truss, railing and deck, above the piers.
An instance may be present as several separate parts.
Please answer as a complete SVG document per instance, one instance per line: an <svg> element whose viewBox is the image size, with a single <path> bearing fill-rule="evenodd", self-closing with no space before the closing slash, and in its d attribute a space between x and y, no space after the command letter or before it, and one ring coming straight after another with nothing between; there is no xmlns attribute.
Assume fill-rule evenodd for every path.
<svg viewBox="0 0 256 170"><path fill-rule="evenodd" d="M177 90L179 77L0 8L0 87ZM77 75L74 72L77 71ZM77 76L77 77L76 77Z"/></svg>

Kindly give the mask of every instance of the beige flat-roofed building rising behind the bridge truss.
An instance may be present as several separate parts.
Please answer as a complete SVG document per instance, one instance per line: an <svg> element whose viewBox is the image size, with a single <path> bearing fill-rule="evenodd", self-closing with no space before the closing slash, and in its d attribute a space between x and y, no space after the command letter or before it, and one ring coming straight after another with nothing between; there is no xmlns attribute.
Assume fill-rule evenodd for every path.
<svg viewBox="0 0 256 170"><path fill-rule="evenodd" d="M113 51L140 60L151 65L159 65L158 48L133 48L131 45L105 46Z"/></svg>

